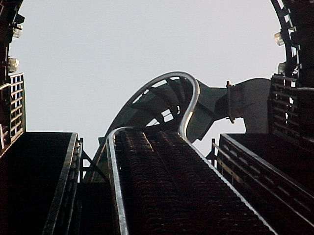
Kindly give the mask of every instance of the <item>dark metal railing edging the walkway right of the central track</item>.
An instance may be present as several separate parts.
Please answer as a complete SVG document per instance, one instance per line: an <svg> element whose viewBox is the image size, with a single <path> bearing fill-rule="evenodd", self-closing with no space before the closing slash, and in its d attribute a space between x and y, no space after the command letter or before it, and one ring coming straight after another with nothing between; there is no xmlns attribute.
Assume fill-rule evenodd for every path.
<svg viewBox="0 0 314 235"><path fill-rule="evenodd" d="M276 201L308 226L314 228L314 196L312 192L287 174L263 160L235 139L221 135L217 168L232 184L240 184L252 192L262 192L269 201Z"/></svg>

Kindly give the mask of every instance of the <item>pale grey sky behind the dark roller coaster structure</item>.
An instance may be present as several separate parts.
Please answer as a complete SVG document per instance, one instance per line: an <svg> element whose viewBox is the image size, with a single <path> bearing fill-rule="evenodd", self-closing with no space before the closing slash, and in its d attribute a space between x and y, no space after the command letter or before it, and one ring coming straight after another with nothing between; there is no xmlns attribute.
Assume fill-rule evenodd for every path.
<svg viewBox="0 0 314 235"><path fill-rule="evenodd" d="M270 78L285 61L270 0L24 0L19 13L24 30L10 56L25 72L27 130L78 132L89 156L124 103L160 74L225 87ZM229 122L210 136L244 131ZM203 152L210 136L197 144Z"/></svg>

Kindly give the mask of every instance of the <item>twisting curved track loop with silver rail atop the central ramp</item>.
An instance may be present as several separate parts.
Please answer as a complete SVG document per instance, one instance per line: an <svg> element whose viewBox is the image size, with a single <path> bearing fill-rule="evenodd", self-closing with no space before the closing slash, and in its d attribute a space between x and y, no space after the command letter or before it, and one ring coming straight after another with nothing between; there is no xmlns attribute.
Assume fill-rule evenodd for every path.
<svg viewBox="0 0 314 235"><path fill-rule="evenodd" d="M154 88L153 86L161 81L167 81L163 85ZM171 85L169 85L171 84ZM173 120L168 122L160 123L160 125L153 125L148 126L148 120L152 120L153 118L160 119L161 115L160 111L170 110L171 107L167 107L169 102L164 101L163 105L160 107L154 107L157 101L160 102L163 97L160 95L156 95L156 92L152 92L150 94L151 88L163 90L163 94L167 94L167 92L173 91L173 97L176 96L177 98L177 106L180 107L180 113L178 116L173 117ZM154 90L153 89L153 90ZM106 155L106 139L110 135L111 132L115 132L116 129L121 127L131 126L131 127L142 127L142 128L149 128L152 130L175 130L179 131L184 137L186 136L186 128L187 124L193 114L193 110L196 106L198 101L198 97L200 94L200 87L197 80L192 77L190 74L186 72L169 72L163 75L158 76L157 78L153 79L152 81L146 83L142 86L132 97L127 101L127 103L123 106L120 110L116 118L113 120L112 124L108 128L105 137L102 139L100 143L100 147L98 148L94 162L100 167L105 168L107 171L107 155ZM151 97L148 97L148 96ZM143 99L142 109L139 107L134 108L134 104L141 102ZM166 98L167 100L167 98ZM150 101L150 102L148 102ZM153 112L153 109L156 109ZM91 180L93 180L95 176L91 176ZM90 178L89 174L87 174L87 180Z"/></svg>

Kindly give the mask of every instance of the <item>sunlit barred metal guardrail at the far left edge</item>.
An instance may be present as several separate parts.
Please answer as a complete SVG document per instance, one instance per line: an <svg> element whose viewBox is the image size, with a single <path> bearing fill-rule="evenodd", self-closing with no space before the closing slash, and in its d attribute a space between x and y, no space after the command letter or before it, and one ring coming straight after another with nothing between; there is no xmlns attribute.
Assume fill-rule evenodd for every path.
<svg viewBox="0 0 314 235"><path fill-rule="evenodd" d="M10 75L10 83L0 86L1 155L26 131L24 73Z"/></svg>

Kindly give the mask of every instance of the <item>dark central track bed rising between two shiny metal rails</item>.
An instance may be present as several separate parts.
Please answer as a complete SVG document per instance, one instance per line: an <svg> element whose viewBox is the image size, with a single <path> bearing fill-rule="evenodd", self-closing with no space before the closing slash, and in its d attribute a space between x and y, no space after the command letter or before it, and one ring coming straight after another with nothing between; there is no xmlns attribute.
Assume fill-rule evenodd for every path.
<svg viewBox="0 0 314 235"><path fill-rule="evenodd" d="M274 234L177 132L120 130L114 148L118 233Z"/></svg>

